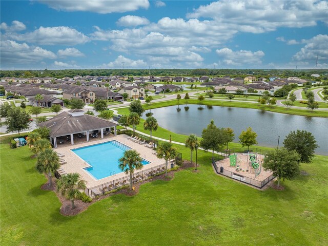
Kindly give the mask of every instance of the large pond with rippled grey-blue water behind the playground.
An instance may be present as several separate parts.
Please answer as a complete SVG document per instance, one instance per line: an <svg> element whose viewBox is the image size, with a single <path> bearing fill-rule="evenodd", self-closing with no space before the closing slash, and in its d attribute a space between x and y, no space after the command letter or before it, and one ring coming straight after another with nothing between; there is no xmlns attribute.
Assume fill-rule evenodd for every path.
<svg viewBox="0 0 328 246"><path fill-rule="evenodd" d="M146 111L142 118L146 119ZM234 130L235 140L242 130L251 126L257 133L258 145L279 146L292 130L310 131L317 140L317 154L328 155L328 118L286 115L265 110L234 108L208 105L177 105L151 109L158 124L178 134L196 134L213 119L217 127L230 127Z"/></svg>

